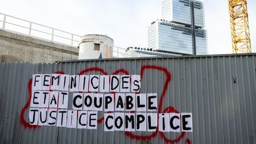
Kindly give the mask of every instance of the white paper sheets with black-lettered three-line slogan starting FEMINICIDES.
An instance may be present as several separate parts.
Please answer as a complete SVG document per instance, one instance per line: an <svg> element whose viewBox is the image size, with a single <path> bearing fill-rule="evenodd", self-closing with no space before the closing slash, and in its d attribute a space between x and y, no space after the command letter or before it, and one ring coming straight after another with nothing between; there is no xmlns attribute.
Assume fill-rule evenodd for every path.
<svg viewBox="0 0 256 144"><path fill-rule="evenodd" d="M140 75L33 75L30 124L97 129L104 111L104 131L193 131L191 113L158 114L157 94L139 92Z"/></svg>

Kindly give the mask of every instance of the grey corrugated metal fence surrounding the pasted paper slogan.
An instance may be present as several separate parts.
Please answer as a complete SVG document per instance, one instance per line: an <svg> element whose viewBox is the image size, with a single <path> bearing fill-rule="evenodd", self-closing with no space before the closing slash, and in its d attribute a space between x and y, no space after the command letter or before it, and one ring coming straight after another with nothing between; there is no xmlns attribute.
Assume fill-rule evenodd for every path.
<svg viewBox="0 0 256 144"><path fill-rule="evenodd" d="M255 60L255 55L218 55L0 63L0 143L256 143ZM87 69L84 75L103 75L91 68L109 75L143 74L140 92L156 92L161 113L192 113L193 132L104 132L104 121L97 130L27 124L33 74ZM98 111L98 119L103 114Z"/></svg>

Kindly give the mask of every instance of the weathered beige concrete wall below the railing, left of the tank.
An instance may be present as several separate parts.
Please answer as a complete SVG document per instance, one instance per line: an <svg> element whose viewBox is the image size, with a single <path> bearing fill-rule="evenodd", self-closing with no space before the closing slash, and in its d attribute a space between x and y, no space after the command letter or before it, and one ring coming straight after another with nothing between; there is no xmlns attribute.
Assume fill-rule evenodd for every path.
<svg viewBox="0 0 256 144"><path fill-rule="evenodd" d="M0 30L0 62L51 63L78 59L78 48Z"/></svg>

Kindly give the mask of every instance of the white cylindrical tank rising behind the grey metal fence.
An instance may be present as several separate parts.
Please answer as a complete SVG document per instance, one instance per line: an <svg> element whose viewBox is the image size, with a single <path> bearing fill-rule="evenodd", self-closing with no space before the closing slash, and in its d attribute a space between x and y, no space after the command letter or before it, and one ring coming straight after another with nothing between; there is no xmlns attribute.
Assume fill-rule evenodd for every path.
<svg viewBox="0 0 256 144"><path fill-rule="evenodd" d="M82 36L79 43L78 59L113 58L114 40L101 34L87 34Z"/></svg>

